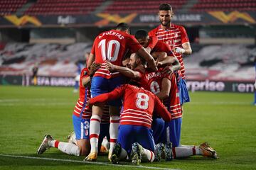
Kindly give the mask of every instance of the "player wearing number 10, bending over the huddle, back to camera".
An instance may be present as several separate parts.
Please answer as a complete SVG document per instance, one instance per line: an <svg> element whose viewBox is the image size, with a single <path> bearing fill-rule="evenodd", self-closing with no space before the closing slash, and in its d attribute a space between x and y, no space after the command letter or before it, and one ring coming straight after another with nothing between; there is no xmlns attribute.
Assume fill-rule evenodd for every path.
<svg viewBox="0 0 256 170"><path fill-rule="evenodd" d="M122 59L126 52L131 50L132 52L138 52L142 57L149 62L149 67L153 70L157 70L154 58L146 52L144 47L137 42L137 40L129 35L129 26L127 23L119 23L115 30L108 30L100 35L97 35L93 43L93 47L90 53L89 60L87 62L88 67L91 66L95 60L96 64L102 64L105 61L109 61L113 64L121 65ZM92 77L91 91L92 97L100 94L112 91L114 88L123 84L124 80L118 72L109 72L102 65ZM100 120L102 117L102 106L92 106L92 117L90 121L90 154L85 158L87 161L95 161L97 159L97 145L98 137L100 134ZM109 103L110 111L110 150L109 158L112 154L114 143L117 139L118 125L119 125L119 106L122 105L120 100L112 101Z"/></svg>

